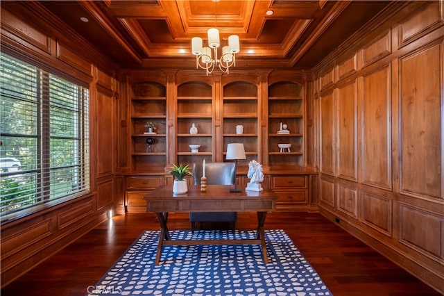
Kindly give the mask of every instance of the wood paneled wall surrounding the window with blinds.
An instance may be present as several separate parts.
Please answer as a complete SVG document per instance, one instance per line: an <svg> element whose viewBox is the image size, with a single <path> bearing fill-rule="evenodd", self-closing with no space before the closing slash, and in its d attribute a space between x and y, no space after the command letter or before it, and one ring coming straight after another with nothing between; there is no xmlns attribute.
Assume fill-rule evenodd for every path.
<svg viewBox="0 0 444 296"><path fill-rule="evenodd" d="M14 6L12 6L14 7ZM112 63L98 65L101 58L94 49L69 47L69 28L60 24L35 26L18 16L26 13L1 9L1 50L34 65L89 86L89 195L67 202L51 204L31 215L1 224L1 286L24 274L62 247L106 219L106 212L115 208L114 197L114 126L116 124L117 81ZM29 19L41 19L33 15ZM58 32L58 33L57 33ZM90 54L89 59L76 53ZM94 63L93 61L94 60ZM102 63L103 64L103 63ZM103 69L106 69L103 70Z"/></svg>

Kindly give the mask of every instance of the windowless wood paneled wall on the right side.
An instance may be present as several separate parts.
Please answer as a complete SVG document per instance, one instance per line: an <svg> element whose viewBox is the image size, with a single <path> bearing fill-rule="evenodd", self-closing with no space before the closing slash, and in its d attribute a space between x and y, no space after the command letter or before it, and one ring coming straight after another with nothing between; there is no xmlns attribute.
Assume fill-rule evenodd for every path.
<svg viewBox="0 0 444 296"><path fill-rule="evenodd" d="M318 67L319 206L444 293L443 1L391 19Z"/></svg>

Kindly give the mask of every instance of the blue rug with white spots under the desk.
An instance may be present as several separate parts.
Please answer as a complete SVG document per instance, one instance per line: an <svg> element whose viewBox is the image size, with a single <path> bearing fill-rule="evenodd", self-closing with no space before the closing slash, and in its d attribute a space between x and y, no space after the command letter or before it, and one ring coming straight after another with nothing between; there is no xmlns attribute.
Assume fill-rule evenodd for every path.
<svg viewBox="0 0 444 296"><path fill-rule="evenodd" d="M145 231L87 295L332 295L283 230L260 245L167 246L154 265L160 231ZM255 238L255 231L170 231L171 239Z"/></svg>

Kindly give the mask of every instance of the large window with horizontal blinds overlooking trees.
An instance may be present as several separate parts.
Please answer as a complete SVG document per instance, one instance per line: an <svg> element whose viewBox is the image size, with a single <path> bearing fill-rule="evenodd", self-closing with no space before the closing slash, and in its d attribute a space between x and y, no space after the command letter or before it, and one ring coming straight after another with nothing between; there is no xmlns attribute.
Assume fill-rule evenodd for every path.
<svg viewBox="0 0 444 296"><path fill-rule="evenodd" d="M0 54L0 215L89 192L88 90Z"/></svg>

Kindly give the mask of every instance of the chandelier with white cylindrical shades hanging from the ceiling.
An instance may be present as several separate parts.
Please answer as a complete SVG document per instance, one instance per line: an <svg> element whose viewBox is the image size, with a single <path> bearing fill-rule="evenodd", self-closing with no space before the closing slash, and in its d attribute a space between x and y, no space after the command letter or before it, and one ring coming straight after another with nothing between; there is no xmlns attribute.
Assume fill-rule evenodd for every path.
<svg viewBox="0 0 444 296"><path fill-rule="evenodd" d="M214 2L217 3L217 0ZM216 4L217 5L217 4ZM217 11L217 6L215 11ZM221 46L219 30L217 29L217 14L215 26L207 31L208 47L203 47L200 37L191 38L191 53L196 56L196 69L205 69L207 75L212 74L217 65L225 74L230 74L230 67L236 67L236 54L240 51L239 36L228 36L228 45L222 47L222 55L218 58L217 49Z"/></svg>

